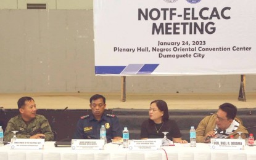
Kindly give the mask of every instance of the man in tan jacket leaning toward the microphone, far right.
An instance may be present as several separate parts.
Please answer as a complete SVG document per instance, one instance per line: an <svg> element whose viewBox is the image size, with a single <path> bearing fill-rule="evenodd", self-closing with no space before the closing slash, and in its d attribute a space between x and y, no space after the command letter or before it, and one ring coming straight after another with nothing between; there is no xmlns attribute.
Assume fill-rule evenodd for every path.
<svg viewBox="0 0 256 160"><path fill-rule="evenodd" d="M210 142L210 138L229 138L234 135L237 138L242 132L242 138L246 138L248 131L242 126L241 121L236 118L236 106L231 103L223 103L219 106L217 113L206 116L196 129L196 142Z"/></svg>

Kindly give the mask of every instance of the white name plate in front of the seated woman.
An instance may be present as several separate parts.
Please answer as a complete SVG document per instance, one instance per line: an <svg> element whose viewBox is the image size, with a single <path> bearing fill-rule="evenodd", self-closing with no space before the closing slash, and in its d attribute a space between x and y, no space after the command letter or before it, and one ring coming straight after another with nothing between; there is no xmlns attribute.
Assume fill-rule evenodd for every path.
<svg viewBox="0 0 256 160"><path fill-rule="evenodd" d="M162 138L129 140L129 150L160 150Z"/></svg>

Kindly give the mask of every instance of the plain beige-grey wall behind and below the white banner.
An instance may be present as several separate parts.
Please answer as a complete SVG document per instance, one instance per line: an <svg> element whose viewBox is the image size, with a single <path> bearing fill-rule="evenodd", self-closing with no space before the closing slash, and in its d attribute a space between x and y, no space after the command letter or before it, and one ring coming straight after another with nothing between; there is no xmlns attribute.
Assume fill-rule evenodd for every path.
<svg viewBox="0 0 256 160"><path fill-rule="evenodd" d="M93 10L0 10L0 92L120 92L94 75ZM246 76L256 91L256 75ZM239 92L240 75L137 76L132 93Z"/></svg>

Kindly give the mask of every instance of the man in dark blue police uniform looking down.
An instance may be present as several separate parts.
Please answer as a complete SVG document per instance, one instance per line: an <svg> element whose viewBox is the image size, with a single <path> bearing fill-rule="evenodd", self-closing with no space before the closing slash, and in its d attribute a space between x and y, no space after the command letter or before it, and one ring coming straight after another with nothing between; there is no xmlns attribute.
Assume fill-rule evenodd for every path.
<svg viewBox="0 0 256 160"><path fill-rule="evenodd" d="M101 125L104 125L107 131L107 142L111 142L111 139L122 138L122 128L117 116L104 113L106 104L103 95L93 95L89 106L92 114L82 116L78 120L74 139L99 139Z"/></svg>

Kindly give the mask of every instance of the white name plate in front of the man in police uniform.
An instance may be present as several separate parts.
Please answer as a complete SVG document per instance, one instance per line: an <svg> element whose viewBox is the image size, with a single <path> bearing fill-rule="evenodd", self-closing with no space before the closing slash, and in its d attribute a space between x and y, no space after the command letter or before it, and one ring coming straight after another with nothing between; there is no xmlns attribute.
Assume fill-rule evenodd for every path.
<svg viewBox="0 0 256 160"><path fill-rule="evenodd" d="M72 150L104 150L104 140L72 140Z"/></svg>

